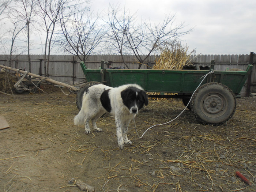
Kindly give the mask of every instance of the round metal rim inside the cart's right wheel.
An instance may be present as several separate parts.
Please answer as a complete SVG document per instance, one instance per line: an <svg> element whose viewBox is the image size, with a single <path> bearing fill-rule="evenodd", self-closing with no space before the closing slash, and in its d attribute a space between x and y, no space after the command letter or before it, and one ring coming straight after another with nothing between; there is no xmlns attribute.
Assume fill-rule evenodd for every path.
<svg viewBox="0 0 256 192"><path fill-rule="evenodd" d="M208 117L219 117L225 113L227 106L225 97L221 94L211 93L205 95L201 102L200 107L202 112Z"/></svg>

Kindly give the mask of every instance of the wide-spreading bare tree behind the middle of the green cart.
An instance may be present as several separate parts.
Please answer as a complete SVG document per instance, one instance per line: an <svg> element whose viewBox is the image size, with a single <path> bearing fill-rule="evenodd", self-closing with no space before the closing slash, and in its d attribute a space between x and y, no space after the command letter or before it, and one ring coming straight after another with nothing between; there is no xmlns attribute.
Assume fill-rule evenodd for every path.
<svg viewBox="0 0 256 192"><path fill-rule="evenodd" d="M108 42L111 49L121 54L125 65L124 53L134 54L140 68L157 48L163 44L172 44L175 39L191 31L182 31L184 23L174 25L175 15L166 16L162 23L152 25L150 20L141 20L138 23L136 15L131 15L128 11L124 10L122 14L119 12L118 7L110 6L107 21L110 27ZM143 54L146 55L142 56Z"/></svg>

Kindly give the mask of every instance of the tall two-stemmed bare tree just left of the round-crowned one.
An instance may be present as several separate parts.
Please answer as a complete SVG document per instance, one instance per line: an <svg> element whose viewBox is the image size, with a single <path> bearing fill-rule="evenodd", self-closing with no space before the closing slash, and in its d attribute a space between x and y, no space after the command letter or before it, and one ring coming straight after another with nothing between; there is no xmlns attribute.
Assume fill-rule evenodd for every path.
<svg viewBox="0 0 256 192"><path fill-rule="evenodd" d="M44 21L46 33L44 44L44 71L45 76L49 77L50 50L56 24L60 19L61 10L68 0L37 0L39 5L39 16Z"/></svg>

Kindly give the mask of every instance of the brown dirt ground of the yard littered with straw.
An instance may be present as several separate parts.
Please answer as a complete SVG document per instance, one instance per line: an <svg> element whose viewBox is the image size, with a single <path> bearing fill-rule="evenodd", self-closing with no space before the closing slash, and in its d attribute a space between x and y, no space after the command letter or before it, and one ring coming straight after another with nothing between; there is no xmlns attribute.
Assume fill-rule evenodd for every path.
<svg viewBox="0 0 256 192"><path fill-rule="evenodd" d="M72 178L100 192L256 190L255 97L237 99L236 113L222 126L198 124L186 109L140 139L131 122L133 144L120 150L113 117L101 117L103 131L86 135L73 124L75 94L44 91L0 94L0 115L10 124L0 131L0 191L81 191ZM183 109L179 99L150 100L135 118L139 135Z"/></svg>

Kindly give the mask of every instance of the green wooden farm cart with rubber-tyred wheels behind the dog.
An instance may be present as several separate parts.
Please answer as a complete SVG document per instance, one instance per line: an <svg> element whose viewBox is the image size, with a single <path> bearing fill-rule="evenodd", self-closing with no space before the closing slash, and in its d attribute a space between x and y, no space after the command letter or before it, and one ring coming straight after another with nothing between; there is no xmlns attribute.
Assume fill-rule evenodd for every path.
<svg viewBox="0 0 256 192"><path fill-rule="evenodd" d="M240 97L240 91L253 67L248 64L246 71L214 71L214 60L210 70L110 69L104 68L104 61L100 69L88 69L84 62L80 65L87 83L77 93L76 106L79 110L84 91L94 84L118 87L136 83L148 93L160 93L149 94L148 97L181 98L186 106L190 101L188 108L196 119L212 125L223 124L233 116L236 97ZM207 78L202 82L205 75Z"/></svg>

